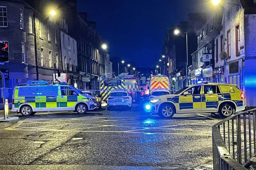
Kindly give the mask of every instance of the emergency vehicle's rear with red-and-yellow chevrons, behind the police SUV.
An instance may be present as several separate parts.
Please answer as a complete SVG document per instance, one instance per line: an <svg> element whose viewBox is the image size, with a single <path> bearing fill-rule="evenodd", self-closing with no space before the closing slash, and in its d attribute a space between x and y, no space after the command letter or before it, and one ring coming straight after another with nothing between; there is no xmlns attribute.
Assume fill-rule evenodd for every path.
<svg viewBox="0 0 256 170"><path fill-rule="evenodd" d="M170 90L169 78L167 76L163 76L163 75L151 76L149 86L150 86L149 87L150 93L154 89L168 89L168 90Z"/></svg>

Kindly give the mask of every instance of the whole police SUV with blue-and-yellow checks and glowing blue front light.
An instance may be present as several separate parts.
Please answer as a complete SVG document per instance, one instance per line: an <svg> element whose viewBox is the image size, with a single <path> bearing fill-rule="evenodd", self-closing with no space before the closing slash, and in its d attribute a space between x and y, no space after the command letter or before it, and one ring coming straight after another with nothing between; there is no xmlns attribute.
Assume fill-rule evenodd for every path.
<svg viewBox="0 0 256 170"><path fill-rule="evenodd" d="M186 86L170 95L150 99L146 111L171 118L175 113L219 113L228 117L245 109L244 93L236 84L204 83Z"/></svg>

